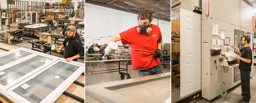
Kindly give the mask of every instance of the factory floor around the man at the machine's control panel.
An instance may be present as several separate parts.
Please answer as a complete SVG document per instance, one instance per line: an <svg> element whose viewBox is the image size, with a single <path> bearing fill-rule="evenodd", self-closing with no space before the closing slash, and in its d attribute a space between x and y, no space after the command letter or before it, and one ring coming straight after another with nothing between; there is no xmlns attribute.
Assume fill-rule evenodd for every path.
<svg viewBox="0 0 256 103"><path fill-rule="evenodd" d="M250 79L250 93L251 93L251 99L249 103L256 103L256 68L254 68L254 75ZM225 91L222 91L225 92ZM228 95L223 97L216 97L212 99L211 101L208 101L202 97L193 100L191 103L238 103L239 100L243 99L243 96L241 96L242 90L241 90L241 84L239 83L235 87L228 90ZM175 90L172 92L172 101L180 99L180 90Z"/></svg>

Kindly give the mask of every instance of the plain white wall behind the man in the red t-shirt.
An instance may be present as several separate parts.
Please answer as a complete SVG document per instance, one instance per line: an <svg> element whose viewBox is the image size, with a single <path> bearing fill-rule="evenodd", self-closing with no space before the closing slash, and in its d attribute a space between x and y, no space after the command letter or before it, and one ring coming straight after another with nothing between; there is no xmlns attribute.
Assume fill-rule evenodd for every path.
<svg viewBox="0 0 256 103"><path fill-rule="evenodd" d="M85 3L85 46L93 45L93 39L117 35L127 29L137 26L138 14L128 13L98 5ZM153 19L152 24L161 29L163 43L171 41L171 22ZM107 39L94 40L103 45ZM121 41L116 42L122 45Z"/></svg>

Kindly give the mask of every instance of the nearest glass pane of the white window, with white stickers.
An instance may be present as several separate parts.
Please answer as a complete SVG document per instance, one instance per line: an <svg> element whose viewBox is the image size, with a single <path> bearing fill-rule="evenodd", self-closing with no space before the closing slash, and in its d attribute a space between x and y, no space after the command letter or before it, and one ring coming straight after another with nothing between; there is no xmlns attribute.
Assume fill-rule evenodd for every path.
<svg viewBox="0 0 256 103"><path fill-rule="evenodd" d="M32 103L40 103L78 68L79 66L58 62L13 91Z"/></svg>

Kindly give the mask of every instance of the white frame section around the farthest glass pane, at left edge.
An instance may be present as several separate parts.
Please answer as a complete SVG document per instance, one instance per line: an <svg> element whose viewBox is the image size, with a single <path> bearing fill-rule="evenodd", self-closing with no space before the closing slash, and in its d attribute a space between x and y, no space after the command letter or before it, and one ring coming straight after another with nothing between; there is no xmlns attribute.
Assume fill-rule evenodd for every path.
<svg viewBox="0 0 256 103"><path fill-rule="evenodd" d="M19 51L21 51L21 50L22 50L22 51L25 51L25 52L28 52L28 53L32 53L32 54L31 54L31 55L28 55L28 56L25 56L25 57L23 57L23 58L17 59L17 60L15 60L15 61L9 62L8 64L5 64L5 65L3 65L3 66L0 66L0 68L4 68L4 67L6 67L6 66L8 66L8 65L14 64L15 62L20 61L20 60L22 60L22 59L24 59L24 58L27 58L27 57L29 57L29 56L36 55L35 52L32 52L32 51L30 51L29 49L26 50L26 49L24 49L24 48L18 48L18 49L14 49L14 50L11 50L11 51L9 51L9 52L5 52L5 53L0 54L0 58L3 57L3 56L6 56L6 55L12 54L12 53L19 52Z"/></svg>

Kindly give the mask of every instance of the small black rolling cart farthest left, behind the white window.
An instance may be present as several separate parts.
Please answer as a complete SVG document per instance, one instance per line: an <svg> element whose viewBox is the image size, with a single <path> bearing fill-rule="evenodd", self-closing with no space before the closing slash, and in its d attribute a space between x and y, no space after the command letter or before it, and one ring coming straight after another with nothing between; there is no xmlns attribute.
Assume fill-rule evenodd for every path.
<svg viewBox="0 0 256 103"><path fill-rule="evenodd" d="M7 33L10 33L10 35L13 36L13 39L11 39L11 42L14 45L15 43L23 43L23 30L8 31Z"/></svg>

